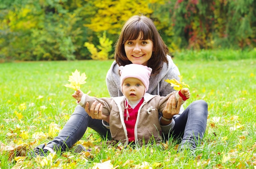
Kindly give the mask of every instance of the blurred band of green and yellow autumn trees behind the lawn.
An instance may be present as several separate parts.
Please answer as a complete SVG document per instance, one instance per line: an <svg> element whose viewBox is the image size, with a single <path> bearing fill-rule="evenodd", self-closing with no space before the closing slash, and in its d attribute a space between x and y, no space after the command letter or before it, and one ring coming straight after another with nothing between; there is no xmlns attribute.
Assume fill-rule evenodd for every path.
<svg viewBox="0 0 256 169"><path fill-rule="evenodd" d="M0 0L0 61L112 59L132 15L180 50L255 50L256 0Z"/></svg>

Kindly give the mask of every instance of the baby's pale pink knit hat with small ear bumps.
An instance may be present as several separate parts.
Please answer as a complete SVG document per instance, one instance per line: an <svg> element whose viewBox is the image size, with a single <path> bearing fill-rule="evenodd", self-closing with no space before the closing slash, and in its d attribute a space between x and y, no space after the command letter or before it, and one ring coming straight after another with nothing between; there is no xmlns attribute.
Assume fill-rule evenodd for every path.
<svg viewBox="0 0 256 169"><path fill-rule="evenodd" d="M141 65L141 64L128 64L126 66L120 66L120 83L121 83L121 89L123 91L123 83L124 80L128 77L134 77L139 79L145 86L145 92L148 91L149 86L149 77L152 72L151 68L148 68L147 66Z"/></svg>

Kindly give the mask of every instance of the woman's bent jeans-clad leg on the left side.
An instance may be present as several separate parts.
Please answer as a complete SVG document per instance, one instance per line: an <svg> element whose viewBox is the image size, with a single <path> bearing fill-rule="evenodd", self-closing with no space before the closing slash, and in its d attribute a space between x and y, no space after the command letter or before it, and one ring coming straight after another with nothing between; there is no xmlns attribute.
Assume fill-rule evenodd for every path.
<svg viewBox="0 0 256 169"><path fill-rule="evenodd" d="M74 143L80 140L85 134L87 127L94 129L101 137L110 136L110 130L102 125L101 120L92 119L80 105L77 105L74 113L64 125L61 132L45 147L50 147L55 151L67 151Z"/></svg>

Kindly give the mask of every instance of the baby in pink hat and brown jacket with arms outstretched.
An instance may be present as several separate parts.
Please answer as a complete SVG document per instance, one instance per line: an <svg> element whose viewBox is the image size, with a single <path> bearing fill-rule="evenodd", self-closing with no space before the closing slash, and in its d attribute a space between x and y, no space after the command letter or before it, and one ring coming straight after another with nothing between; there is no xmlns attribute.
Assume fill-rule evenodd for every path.
<svg viewBox="0 0 256 169"><path fill-rule="evenodd" d="M77 90L72 97L83 108L87 102L89 107L94 101L101 103L102 114L110 116L109 128L112 138L123 143L124 147L130 143L143 145L143 143L149 144L154 141L160 142L162 140L160 120L171 121L174 124L175 121L163 116L159 118L159 112L164 110L169 97L176 98L176 106L173 106L173 109L176 109L180 96L184 103L184 100L190 97L189 89L183 88L180 91L171 92L166 97L151 95L146 93L151 68L141 64L128 64L120 66L119 70L121 91L124 96L97 99ZM178 114L179 111L176 112Z"/></svg>

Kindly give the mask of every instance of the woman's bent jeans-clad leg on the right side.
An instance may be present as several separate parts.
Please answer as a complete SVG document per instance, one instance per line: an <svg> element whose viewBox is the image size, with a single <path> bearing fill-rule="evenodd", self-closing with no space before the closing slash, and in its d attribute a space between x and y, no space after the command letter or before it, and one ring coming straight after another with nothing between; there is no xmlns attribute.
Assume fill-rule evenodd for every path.
<svg viewBox="0 0 256 169"><path fill-rule="evenodd" d="M208 105L204 100L191 103L180 116L175 117L172 135L182 138L179 149L194 149L201 144L207 125Z"/></svg>

